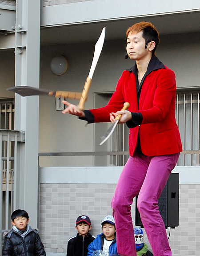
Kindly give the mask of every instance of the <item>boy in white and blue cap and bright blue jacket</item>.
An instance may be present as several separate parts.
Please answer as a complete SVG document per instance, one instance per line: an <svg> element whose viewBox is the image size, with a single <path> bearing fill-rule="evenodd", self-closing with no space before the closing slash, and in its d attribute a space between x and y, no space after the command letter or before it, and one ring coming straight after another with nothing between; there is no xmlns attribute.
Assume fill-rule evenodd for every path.
<svg viewBox="0 0 200 256"><path fill-rule="evenodd" d="M116 244L115 220L111 215L106 216L102 222L102 233L88 246L88 256L102 252L104 256L118 256ZM97 253L97 255L99 255Z"/></svg>

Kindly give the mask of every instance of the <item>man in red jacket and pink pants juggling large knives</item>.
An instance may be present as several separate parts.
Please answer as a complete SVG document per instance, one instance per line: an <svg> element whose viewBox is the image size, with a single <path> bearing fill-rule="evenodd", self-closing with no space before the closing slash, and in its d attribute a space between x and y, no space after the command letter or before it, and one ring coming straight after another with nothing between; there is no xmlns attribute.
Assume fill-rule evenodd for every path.
<svg viewBox="0 0 200 256"><path fill-rule="evenodd" d="M108 105L80 111L64 101L63 113L93 122L115 122L130 128L129 154L112 199L116 224L117 251L136 256L131 217L133 198L139 193L137 207L154 256L171 256L168 238L158 210L158 198L182 151L175 119L176 79L172 70L155 56L159 34L149 22L127 30L127 54L136 64L122 73ZM117 111L129 102L125 111Z"/></svg>

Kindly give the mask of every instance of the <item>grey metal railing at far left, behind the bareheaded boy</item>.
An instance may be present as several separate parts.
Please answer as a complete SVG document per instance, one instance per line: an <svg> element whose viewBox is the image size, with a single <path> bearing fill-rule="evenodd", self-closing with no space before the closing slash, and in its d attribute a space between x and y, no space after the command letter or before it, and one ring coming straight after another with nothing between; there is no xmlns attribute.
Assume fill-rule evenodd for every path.
<svg viewBox="0 0 200 256"><path fill-rule="evenodd" d="M17 144L25 141L25 132L0 130L0 244L2 235L11 228L11 215L16 207Z"/></svg>

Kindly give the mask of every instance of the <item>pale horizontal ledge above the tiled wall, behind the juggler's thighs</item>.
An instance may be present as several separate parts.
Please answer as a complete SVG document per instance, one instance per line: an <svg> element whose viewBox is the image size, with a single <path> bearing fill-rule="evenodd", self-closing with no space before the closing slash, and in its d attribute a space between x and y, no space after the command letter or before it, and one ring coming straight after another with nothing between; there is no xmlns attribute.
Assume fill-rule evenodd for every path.
<svg viewBox="0 0 200 256"><path fill-rule="evenodd" d="M42 167L39 181L43 184L116 184L120 167ZM176 166L180 184L200 184L200 166Z"/></svg>

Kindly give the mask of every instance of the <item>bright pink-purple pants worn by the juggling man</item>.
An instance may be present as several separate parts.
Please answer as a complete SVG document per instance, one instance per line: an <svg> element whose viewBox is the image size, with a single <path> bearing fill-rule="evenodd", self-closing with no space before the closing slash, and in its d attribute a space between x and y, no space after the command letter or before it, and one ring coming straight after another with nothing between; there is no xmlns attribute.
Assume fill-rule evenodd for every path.
<svg viewBox="0 0 200 256"><path fill-rule="evenodd" d="M117 252L120 255L137 256L131 204L138 193L137 207L153 255L172 255L157 203L179 154L145 157L136 153L129 157L111 203L116 224Z"/></svg>

